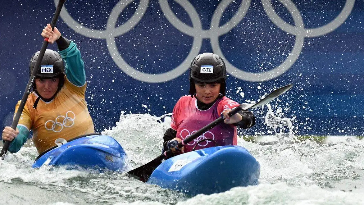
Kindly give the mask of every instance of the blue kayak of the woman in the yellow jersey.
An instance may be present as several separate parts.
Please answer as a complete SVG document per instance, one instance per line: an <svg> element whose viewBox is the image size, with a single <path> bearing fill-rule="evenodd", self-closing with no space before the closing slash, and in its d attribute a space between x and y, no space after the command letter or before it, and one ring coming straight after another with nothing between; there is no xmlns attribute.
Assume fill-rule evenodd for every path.
<svg viewBox="0 0 364 205"><path fill-rule="evenodd" d="M46 150L38 156L32 167L52 165L70 169L81 167L123 171L125 157L125 151L114 138L89 134Z"/></svg>

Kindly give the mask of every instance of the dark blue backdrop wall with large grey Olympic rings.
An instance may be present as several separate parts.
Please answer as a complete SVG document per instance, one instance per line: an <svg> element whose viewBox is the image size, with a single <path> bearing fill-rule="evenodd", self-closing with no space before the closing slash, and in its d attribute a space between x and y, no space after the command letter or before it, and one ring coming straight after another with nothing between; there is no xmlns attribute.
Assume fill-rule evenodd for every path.
<svg viewBox="0 0 364 205"><path fill-rule="evenodd" d="M9 126L53 0L1 0L0 125ZM227 64L227 96L272 104L299 135L363 135L364 5L355 0L67 0L56 27L77 43L98 131L120 112L161 116L188 93L199 53ZM56 50L56 45L50 45ZM264 112L245 134L269 134ZM1 129L2 129L1 128Z"/></svg>

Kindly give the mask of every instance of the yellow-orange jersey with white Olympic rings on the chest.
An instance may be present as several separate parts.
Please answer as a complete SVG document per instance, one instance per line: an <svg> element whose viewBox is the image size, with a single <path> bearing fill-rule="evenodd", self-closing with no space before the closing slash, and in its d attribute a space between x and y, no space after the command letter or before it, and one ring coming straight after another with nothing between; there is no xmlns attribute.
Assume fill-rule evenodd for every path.
<svg viewBox="0 0 364 205"><path fill-rule="evenodd" d="M64 76L64 85L50 102L39 100L38 95L29 94L18 126L33 130L33 142L39 153L55 146L58 138L71 140L77 136L94 133L94 123L85 101L86 83L79 87ZM15 106L15 113L20 101Z"/></svg>

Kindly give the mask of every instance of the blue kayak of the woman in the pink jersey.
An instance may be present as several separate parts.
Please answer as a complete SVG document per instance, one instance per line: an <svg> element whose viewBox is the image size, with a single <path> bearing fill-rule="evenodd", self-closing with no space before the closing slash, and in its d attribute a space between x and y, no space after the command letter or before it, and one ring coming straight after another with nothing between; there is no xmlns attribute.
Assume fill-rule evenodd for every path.
<svg viewBox="0 0 364 205"><path fill-rule="evenodd" d="M257 185L259 175L259 162L248 150L240 146L220 146L165 160L147 183L195 196Z"/></svg>

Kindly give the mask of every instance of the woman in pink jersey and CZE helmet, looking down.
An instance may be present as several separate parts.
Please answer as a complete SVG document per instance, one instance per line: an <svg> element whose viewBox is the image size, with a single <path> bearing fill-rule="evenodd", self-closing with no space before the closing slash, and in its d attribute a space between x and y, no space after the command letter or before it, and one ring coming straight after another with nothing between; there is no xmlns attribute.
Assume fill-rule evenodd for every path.
<svg viewBox="0 0 364 205"><path fill-rule="evenodd" d="M227 98L225 90L226 67L223 60L213 53L199 54L190 66L190 95L179 98L173 109L171 128L163 136L163 151L177 146L178 142L221 115L225 117L224 123L203 133L177 152L237 145L236 126L250 128L255 124L255 117L249 111L240 111L229 117L228 113L239 103Z"/></svg>

